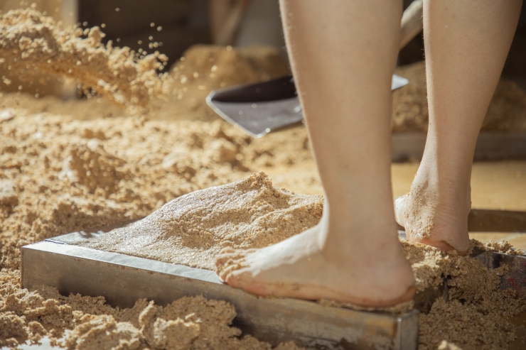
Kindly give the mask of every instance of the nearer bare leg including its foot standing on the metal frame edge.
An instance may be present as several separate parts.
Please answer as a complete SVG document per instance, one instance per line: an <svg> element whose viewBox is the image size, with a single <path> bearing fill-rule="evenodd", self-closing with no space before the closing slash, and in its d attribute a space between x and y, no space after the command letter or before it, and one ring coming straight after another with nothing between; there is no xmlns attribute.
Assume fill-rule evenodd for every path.
<svg viewBox="0 0 526 350"><path fill-rule="evenodd" d="M282 0L286 43L326 192L321 223L274 246L227 248L218 274L257 295L362 306L410 300L390 182L399 0Z"/></svg>

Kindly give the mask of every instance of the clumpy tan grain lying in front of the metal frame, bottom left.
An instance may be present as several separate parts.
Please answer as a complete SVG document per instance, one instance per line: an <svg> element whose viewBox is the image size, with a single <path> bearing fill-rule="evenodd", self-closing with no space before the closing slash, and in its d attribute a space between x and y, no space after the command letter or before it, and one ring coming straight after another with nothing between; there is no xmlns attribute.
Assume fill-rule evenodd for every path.
<svg viewBox="0 0 526 350"><path fill-rule="evenodd" d="M1 303L0 345L47 336L51 345L66 349L272 349L253 337L239 338L240 330L230 327L236 313L227 302L183 297L160 307L142 299L121 310L104 305L103 297L63 297L46 287L6 290L20 276L2 270L0 278L1 295L7 294ZM64 334L64 329L72 332ZM275 349L299 348L286 343Z"/></svg>

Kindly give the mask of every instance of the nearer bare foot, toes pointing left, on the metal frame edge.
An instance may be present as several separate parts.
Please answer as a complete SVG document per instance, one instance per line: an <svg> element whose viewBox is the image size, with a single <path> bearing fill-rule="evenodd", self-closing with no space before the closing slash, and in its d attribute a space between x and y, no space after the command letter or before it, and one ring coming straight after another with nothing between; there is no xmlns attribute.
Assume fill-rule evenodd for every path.
<svg viewBox="0 0 526 350"><path fill-rule="evenodd" d="M328 228L324 215L318 226L274 246L224 248L216 272L232 287L262 296L336 300L361 307L412 299L414 277L394 227L392 235L382 235L385 241L370 239L374 235L365 229L360 232L363 239L350 246L345 240L331 241L338 234L329 235Z"/></svg>

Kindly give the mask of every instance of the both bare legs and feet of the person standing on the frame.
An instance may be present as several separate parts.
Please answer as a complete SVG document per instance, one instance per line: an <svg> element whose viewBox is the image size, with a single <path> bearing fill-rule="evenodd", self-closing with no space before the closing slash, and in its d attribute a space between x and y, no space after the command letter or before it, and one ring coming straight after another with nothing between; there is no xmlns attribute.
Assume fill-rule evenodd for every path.
<svg viewBox="0 0 526 350"><path fill-rule="evenodd" d="M430 125L412 192L397 199L409 240L468 248L478 130L517 25L519 0L424 1ZM412 299L390 182L390 82L398 0L281 0L285 38L318 165L320 224L274 246L225 248L225 283L256 295L386 307ZM338 23L334 25L333 23Z"/></svg>

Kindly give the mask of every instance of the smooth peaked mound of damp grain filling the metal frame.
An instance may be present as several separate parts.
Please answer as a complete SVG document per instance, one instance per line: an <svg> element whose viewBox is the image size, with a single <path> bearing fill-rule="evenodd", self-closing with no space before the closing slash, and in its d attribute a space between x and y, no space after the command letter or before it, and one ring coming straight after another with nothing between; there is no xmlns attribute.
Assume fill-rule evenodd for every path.
<svg viewBox="0 0 526 350"><path fill-rule="evenodd" d="M221 248L263 248L318 224L323 199L272 186L259 173L191 192L80 246L213 270Z"/></svg>

